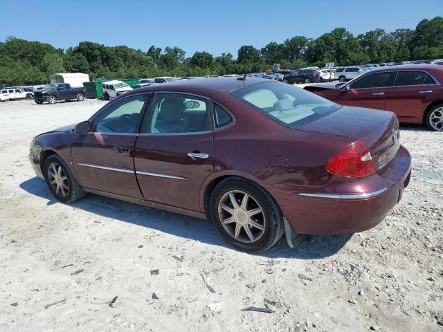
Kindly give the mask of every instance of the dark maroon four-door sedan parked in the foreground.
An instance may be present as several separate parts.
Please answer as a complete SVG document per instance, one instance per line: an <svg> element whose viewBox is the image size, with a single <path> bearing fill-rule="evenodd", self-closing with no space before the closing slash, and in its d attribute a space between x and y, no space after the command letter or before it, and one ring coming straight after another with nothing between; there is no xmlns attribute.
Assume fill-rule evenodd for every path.
<svg viewBox="0 0 443 332"><path fill-rule="evenodd" d="M395 114L252 77L130 91L37 136L30 162L59 201L91 192L208 218L248 251L368 230L410 178Z"/></svg>

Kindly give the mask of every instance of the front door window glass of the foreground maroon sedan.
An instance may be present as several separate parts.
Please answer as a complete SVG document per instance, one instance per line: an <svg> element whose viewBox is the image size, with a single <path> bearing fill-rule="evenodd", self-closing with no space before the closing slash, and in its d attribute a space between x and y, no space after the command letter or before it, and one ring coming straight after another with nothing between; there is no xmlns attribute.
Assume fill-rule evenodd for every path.
<svg viewBox="0 0 443 332"><path fill-rule="evenodd" d="M113 102L93 121L96 133L138 133L148 95L133 95Z"/></svg>

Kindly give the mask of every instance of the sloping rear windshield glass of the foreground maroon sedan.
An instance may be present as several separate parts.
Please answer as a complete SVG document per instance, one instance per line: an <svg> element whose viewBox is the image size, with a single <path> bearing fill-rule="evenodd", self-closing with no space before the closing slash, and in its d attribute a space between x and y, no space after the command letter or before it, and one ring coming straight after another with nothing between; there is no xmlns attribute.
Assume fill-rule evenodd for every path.
<svg viewBox="0 0 443 332"><path fill-rule="evenodd" d="M233 91L233 95L287 127L316 120L341 107L314 93L284 83L246 86Z"/></svg>

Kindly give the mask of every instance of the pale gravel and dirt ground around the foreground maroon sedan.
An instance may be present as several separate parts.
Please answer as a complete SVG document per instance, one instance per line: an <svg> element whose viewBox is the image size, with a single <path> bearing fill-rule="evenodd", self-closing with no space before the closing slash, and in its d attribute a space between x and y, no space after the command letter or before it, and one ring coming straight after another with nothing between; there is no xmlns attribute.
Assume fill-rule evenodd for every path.
<svg viewBox="0 0 443 332"><path fill-rule="evenodd" d="M0 103L0 331L443 331L443 133L401 127L413 176L377 228L248 255L208 221L53 199L30 141L103 103Z"/></svg>

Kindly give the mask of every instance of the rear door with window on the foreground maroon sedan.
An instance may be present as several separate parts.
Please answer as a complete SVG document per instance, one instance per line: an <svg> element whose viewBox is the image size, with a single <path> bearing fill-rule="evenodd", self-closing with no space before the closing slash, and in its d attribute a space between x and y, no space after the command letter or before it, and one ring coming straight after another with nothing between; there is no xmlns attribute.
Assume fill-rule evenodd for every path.
<svg viewBox="0 0 443 332"><path fill-rule="evenodd" d="M134 165L146 200L200 211L201 184L214 172L209 101L157 93L136 141Z"/></svg>

